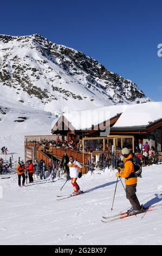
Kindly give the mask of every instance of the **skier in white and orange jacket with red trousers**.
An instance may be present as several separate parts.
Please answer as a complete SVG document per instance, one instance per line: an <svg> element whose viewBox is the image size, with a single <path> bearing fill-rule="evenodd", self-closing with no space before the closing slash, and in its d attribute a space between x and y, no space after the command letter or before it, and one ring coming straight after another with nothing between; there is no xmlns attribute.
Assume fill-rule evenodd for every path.
<svg viewBox="0 0 162 256"><path fill-rule="evenodd" d="M80 187L79 185L76 183L77 178L81 178L82 176L82 166L79 162L77 162L73 156L69 157L69 163L68 163L68 167L69 167L69 171L70 171L70 178L72 180L72 185L74 188L74 192L72 193L72 196L75 196L76 194L80 194Z"/></svg>

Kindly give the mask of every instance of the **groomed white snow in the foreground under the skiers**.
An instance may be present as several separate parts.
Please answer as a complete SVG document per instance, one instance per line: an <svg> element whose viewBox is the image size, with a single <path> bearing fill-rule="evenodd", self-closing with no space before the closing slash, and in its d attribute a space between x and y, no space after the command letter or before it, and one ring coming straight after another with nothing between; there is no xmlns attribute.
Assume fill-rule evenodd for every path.
<svg viewBox="0 0 162 256"><path fill-rule="evenodd" d="M158 198L162 184L161 165L143 168L138 179L138 198L142 204L162 203ZM1 177L0 177L1 178ZM56 200L57 194L73 191L70 181L37 180L24 188L17 186L17 175L0 180L1 245L161 245L162 210L112 223L102 223L101 216L111 215L115 172L83 175L79 185L88 193ZM148 186L149 184L149 186ZM118 184L112 214L129 207L122 185Z"/></svg>

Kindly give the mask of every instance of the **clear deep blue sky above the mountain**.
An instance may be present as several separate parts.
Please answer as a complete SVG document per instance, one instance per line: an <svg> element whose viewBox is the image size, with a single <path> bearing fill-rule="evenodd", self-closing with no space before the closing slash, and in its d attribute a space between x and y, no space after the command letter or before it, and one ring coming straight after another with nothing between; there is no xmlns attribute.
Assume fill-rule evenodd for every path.
<svg viewBox="0 0 162 256"><path fill-rule="evenodd" d="M0 33L40 33L97 59L162 101L161 9L160 0L5 0Z"/></svg>

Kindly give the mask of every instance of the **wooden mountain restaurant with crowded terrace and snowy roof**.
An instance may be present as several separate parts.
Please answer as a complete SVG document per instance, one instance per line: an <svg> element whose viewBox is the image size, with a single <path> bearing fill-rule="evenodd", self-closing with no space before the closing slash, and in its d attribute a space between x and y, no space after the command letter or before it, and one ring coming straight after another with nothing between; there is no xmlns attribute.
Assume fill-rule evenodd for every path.
<svg viewBox="0 0 162 256"><path fill-rule="evenodd" d="M140 104L143 115L145 115L145 109L142 109L142 107L145 106L145 104L151 103L155 102ZM154 104L152 105L154 107ZM135 107L136 105L134 108ZM162 108L162 104L159 107ZM155 110L157 111L157 106L155 106ZM90 124L89 126L85 126L85 124L82 125L82 121L81 124L79 124L76 118L73 119L73 115L69 118L65 114L56 119L51 130L51 135L25 136L25 160L37 159L39 161L43 159L46 164L49 165L53 158L61 160L66 151L67 155L73 155L83 166L87 166L88 157L91 152L93 152L95 156L98 155L101 150L106 150L112 145L114 146L116 154L119 154L124 147L128 147L135 152L139 141L142 141L143 144L147 141L150 147L153 146L161 152L161 110L162 109L160 109L160 114L157 115L159 117L158 119L155 119L155 113L152 111L152 114L147 118L144 116L146 120L138 121L134 120L133 115L129 115L129 109L128 111L126 110L119 113L118 107L116 111L113 109L108 119L105 118L101 120L100 118L100 123L98 120L93 120L93 123L88 123L88 125ZM139 120L141 120L141 112L138 113ZM132 113L134 113L133 110ZM90 113L88 114L90 115ZM137 117L137 113L135 113L135 117ZM89 118L90 116L88 120ZM136 123L139 124L136 125ZM59 146L58 144L50 143L51 141L56 141L58 137L59 141L67 141L69 145L73 143L75 147L67 147L67 145L64 144Z"/></svg>

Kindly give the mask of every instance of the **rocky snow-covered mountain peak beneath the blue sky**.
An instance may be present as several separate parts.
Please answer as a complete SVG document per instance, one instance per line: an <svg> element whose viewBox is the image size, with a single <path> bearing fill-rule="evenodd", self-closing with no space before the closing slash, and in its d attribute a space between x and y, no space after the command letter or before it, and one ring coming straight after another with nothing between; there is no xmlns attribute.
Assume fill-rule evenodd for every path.
<svg viewBox="0 0 162 256"><path fill-rule="evenodd" d="M39 34L0 35L0 100L53 113L150 101L132 81Z"/></svg>

